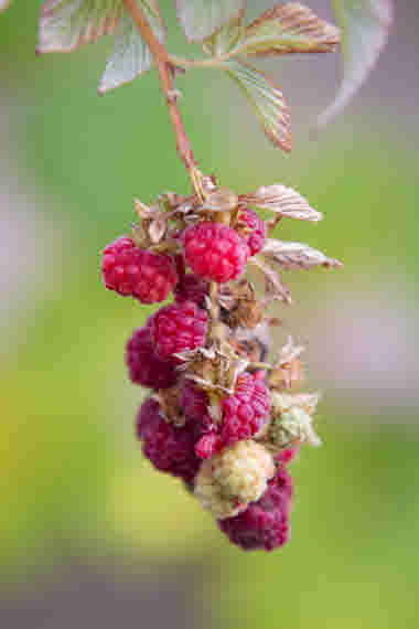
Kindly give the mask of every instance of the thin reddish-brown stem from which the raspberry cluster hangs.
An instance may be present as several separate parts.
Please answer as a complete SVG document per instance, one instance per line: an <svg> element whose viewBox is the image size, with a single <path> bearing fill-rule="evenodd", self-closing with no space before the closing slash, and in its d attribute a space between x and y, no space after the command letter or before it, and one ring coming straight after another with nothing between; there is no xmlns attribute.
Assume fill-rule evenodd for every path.
<svg viewBox="0 0 419 629"><path fill-rule="evenodd" d="M191 179L194 191L202 198L202 185L200 171L192 152L191 142L186 136L185 128L181 118L181 114L176 104L176 92L171 75L172 65L165 47L154 35L146 15L136 0L123 0L127 10L130 12L133 22L141 33L142 39L147 42L153 56L157 70L159 72L159 81L161 89L164 94L165 103L169 109L169 116L172 121L174 136L176 139L176 149L180 159L185 164L187 174Z"/></svg>

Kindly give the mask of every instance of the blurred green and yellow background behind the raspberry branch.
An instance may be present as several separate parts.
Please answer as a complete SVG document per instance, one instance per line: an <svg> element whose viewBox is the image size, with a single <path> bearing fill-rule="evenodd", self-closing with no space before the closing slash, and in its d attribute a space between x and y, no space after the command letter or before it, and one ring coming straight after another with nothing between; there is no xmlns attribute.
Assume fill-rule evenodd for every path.
<svg viewBox="0 0 419 629"><path fill-rule="evenodd" d="M249 4L250 17L269 6ZM308 4L330 15L327 2ZM324 446L293 465L292 541L270 554L230 546L133 439L142 392L123 347L150 310L107 292L99 260L129 228L133 196L187 191L157 76L99 98L109 42L36 58L40 2L0 17L1 627L417 627L412 4L398 2L369 84L318 137L336 60L268 64L292 107L291 157L225 77L180 79L203 170L239 192L297 188L325 220L282 222L278 235L345 263L288 275L296 306L278 310L278 343L292 332L308 345Z"/></svg>

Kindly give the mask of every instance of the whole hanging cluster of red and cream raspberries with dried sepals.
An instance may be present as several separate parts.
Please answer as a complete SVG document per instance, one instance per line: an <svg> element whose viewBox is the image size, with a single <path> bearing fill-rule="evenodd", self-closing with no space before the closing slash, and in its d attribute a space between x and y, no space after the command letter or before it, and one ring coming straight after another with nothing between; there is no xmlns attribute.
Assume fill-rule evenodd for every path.
<svg viewBox="0 0 419 629"><path fill-rule="evenodd" d="M302 348L291 340L272 364L262 362L266 310L272 284L280 286L267 258L278 262L268 238L278 221L249 205L267 200L219 190L213 179L203 184L201 196L138 202L141 221L105 248L103 275L108 289L141 303L173 294L126 347L130 380L150 390L137 415L144 457L181 479L230 542L271 551L289 539L288 465L300 444L319 443L318 397L293 392ZM253 260L267 273L264 299L246 277Z"/></svg>

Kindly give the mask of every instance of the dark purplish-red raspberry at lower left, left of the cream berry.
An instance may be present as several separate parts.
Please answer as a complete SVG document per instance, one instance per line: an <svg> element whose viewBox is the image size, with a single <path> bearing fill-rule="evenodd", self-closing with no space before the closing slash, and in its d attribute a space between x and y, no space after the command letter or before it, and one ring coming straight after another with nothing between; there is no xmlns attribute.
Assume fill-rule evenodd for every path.
<svg viewBox="0 0 419 629"><path fill-rule="evenodd" d="M195 478L201 460L194 450L194 426L186 423L179 428L160 414L155 399L147 399L137 417L137 435L142 440L142 452L153 466L190 483Z"/></svg>

